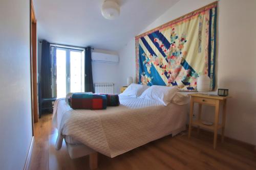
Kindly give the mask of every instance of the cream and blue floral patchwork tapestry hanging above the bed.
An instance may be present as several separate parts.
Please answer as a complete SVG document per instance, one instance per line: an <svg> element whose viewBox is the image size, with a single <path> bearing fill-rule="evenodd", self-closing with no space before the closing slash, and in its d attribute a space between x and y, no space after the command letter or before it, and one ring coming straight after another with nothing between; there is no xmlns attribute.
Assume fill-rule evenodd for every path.
<svg viewBox="0 0 256 170"><path fill-rule="evenodd" d="M217 2L138 35L136 82L197 90L201 74L215 88Z"/></svg>

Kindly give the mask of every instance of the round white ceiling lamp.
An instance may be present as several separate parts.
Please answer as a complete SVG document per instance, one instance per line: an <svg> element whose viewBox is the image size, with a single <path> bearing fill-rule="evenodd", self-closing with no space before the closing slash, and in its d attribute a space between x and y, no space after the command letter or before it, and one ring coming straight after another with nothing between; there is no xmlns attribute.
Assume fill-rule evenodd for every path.
<svg viewBox="0 0 256 170"><path fill-rule="evenodd" d="M116 19L120 15L120 7L114 1L104 1L101 7L101 13L106 19Z"/></svg>

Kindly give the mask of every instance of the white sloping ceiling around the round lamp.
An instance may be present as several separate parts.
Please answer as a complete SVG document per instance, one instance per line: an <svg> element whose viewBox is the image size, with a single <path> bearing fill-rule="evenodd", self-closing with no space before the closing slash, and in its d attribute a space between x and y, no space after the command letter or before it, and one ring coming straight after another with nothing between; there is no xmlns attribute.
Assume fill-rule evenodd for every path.
<svg viewBox="0 0 256 170"><path fill-rule="evenodd" d="M120 16L101 15L102 0L34 0L38 39L118 51L179 0L116 0Z"/></svg>

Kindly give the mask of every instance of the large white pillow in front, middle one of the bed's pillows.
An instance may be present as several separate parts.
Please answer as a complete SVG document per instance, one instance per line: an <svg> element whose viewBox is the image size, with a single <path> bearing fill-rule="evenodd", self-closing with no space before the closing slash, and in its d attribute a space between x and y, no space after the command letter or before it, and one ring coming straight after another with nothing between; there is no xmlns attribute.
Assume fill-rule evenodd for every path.
<svg viewBox="0 0 256 170"><path fill-rule="evenodd" d="M177 87L170 86L156 86L153 85L146 89L140 99L155 100L167 106L173 99L174 95L179 91Z"/></svg>

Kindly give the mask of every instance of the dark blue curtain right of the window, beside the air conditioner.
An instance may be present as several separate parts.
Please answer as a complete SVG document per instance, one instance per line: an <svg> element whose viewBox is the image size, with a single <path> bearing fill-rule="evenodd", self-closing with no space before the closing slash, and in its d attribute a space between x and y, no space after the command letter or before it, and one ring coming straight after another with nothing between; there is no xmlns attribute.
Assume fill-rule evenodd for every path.
<svg viewBox="0 0 256 170"><path fill-rule="evenodd" d="M91 52L91 47L88 46L86 47L86 54L85 54L85 74L86 78L85 80L85 85L84 85L84 90L86 92L94 92L94 87L93 87L93 72L92 72L92 52Z"/></svg>

